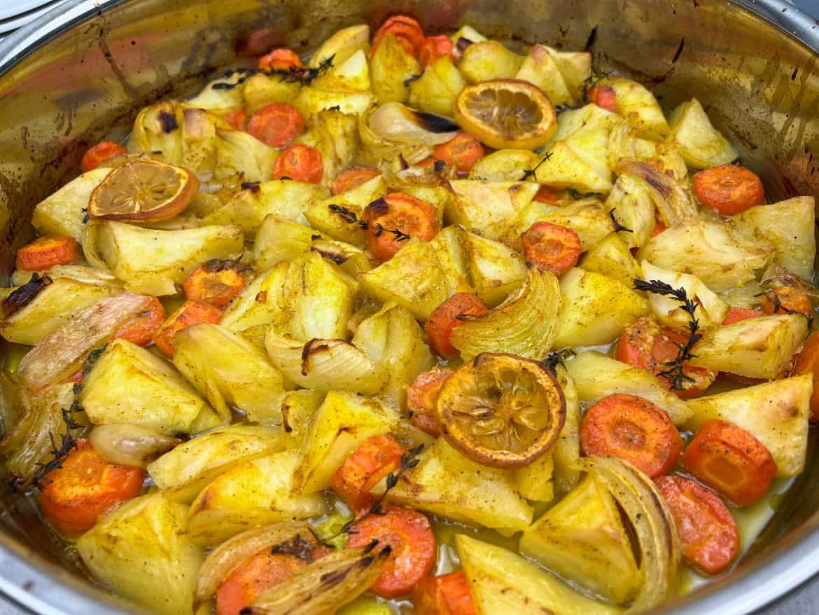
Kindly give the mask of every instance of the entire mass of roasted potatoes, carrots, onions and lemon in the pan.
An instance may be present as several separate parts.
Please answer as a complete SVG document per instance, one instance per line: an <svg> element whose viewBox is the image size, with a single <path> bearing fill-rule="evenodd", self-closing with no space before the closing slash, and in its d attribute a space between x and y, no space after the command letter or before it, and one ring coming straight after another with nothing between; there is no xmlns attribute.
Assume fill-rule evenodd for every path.
<svg viewBox="0 0 819 615"><path fill-rule="evenodd" d="M149 612L644 613L803 471L813 199L588 52L428 34L273 49L34 210L7 479Z"/></svg>

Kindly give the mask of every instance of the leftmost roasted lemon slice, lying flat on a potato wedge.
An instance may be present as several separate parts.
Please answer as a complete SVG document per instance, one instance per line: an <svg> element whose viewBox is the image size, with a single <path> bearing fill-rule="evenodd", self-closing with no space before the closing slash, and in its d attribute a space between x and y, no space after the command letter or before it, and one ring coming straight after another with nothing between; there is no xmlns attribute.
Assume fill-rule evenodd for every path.
<svg viewBox="0 0 819 615"><path fill-rule="evenodd" d="M126 162L106 175L88 199L88 216L155 221L181 212L197 194L199 180L182 166L147 158Z"/></svg>

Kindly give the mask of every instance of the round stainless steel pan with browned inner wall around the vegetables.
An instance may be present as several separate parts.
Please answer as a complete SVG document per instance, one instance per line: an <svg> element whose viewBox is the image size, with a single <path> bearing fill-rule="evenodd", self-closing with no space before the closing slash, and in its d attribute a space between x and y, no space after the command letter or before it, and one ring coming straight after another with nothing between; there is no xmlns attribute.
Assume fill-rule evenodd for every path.
<svg viewBox="0 0 819 615"><path fill-rule="evenodd" d="M409 11L428 30L589 45L672 106L695 95L773 198L819 196L819 24L781 0L72 0L0 43L0 271L32 207L136 109L238 57ZM592 34L594 33L594 34ZM750 613L819 572L819 460L735 571L667 609ZM2 477L0 477L2 478ZM0 590L37 613L138 613L85 580L33 508L0 500ZM502 614L499 614L502 615Z"/></svg>

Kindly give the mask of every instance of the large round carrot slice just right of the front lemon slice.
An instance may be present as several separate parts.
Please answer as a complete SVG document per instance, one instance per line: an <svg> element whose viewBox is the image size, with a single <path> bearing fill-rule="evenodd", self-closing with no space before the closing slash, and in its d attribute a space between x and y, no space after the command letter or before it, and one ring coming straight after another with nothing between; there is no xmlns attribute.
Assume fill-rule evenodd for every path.
<svg viewBox="0 0 819 615"><path fill-rule="evenodd" d="M682 450L680 432L663 408L622 393L589 408L580 444L587 455L615 455L651 478L671 471Z"/></svg>

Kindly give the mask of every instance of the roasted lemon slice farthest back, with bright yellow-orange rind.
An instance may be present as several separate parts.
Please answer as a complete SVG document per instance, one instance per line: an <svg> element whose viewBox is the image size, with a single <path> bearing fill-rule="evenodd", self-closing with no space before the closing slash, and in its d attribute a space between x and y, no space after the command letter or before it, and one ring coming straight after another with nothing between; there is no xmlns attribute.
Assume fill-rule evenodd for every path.
<svg viewBox="0 0 819 615"><path fill-rule="evenodd" d="M483 81L461 90L455 120L497 149L536 149L557 130L554 107L543 90L514 79Z"/></svg>

